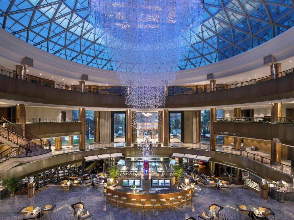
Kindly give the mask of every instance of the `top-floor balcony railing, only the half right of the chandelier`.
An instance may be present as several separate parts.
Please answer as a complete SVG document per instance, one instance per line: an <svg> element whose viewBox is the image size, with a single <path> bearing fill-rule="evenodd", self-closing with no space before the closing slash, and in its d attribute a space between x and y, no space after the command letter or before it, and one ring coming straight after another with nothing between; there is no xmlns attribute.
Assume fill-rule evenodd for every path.
<svg viewBox="0 0 294 220"><path fill-rule="evenodd" d="M268 80L277 79L277 78L280 78L280 77L287 76L287 75L289 75L289 74L291 74L293 72L294 72L294 68L292 68L290 70L285 70L283 72L276 73L274 75L260 77L258 79L251 79L251 80L248 80L248 81L245 81L245 82L238 82L238 83L225 85L225 86L217 86L217 87L213 87L213 88L209 88L209 89L193 89L193 90L188 90L188 91L169 92L168 95L169 96L172 96L172 95L188 95L188 94L197 94L197 93L203 93L203 92L214 92L214 91L220 91L220 90L225 90L225 89L233 89L233 88L237 88L237 87L248 86L248 85L257 84L257 83L260 83L260 82L265 82L265 81L268 81ZM183 87L183 89L185 89L185 87ZM186 89L188 89L188 88L186 88Z"/></svg>

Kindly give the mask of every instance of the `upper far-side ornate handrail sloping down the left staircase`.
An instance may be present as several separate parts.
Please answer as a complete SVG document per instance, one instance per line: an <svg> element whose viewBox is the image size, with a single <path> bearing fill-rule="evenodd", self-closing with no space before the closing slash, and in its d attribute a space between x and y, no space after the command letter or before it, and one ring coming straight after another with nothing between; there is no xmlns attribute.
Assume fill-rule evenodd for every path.
<svg viewBox="0 0 294 220"><path fill-rule="evenodd" d="M8 124L8 129L11 131L14 131L16 134L18 134L19 136L22 136L23 138L32 141L33 143L35 143L36 145L41 146L41 148L45 148L45 149L51 149L51 141L44 141L41 138L36 137L35 135L29 133L28 131L20 128L19 126L11 123L10 121L8 121L7 119L12 119L12 118L4 118L4 121L7 122Z"/></svg>

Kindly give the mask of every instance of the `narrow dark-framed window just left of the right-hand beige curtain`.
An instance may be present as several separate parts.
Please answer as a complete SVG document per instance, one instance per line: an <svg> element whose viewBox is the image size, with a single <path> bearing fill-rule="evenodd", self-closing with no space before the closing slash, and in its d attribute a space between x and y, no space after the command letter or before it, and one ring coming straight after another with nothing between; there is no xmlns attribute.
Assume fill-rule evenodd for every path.
<svg viewBox="0 0 294 220"><path fill-rule="evenodd" d="M181 113L169 114L170 142L181 142Z"/></svg>

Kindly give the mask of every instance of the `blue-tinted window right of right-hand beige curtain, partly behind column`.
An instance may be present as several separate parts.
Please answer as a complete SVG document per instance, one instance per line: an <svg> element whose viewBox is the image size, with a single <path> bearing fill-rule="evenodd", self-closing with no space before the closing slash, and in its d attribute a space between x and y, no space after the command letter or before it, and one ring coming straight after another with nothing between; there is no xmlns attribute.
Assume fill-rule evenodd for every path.
<svg viewBox="0 0 294 220"><path fill-rule="evenodd" d="M223 117L223 110L216 110L216 117ZM201 142L209 143L209 120L210 120L210 111L202 110L201 111ZM216 136L216 144L223 144L223 136Z"/></svg>

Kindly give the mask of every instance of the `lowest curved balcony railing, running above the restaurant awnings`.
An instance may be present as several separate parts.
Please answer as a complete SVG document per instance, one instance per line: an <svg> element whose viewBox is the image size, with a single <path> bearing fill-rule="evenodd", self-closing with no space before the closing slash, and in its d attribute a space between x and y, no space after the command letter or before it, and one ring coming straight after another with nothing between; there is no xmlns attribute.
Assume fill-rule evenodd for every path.
<svg viewBox="0 0 294 220"><path fill-rule="evenodd" d="M118 147L124 147L124 148L140 148L138 146L134 147L134 143L131 144L130 147L126 147L124 142L116 142L116 143L89 143L86 144L86 150L95 150L95 149L101 149L101 148L118 148ZM153 143L151 146L152 148L171 148L171 147L178 147L178 148L192 148L192 149L200 149L200 150L209 150L210 145L206 143L178 143L178 142L170 142L167 147L163 147L162 143ZM74 153L79 151L79 146L71 146L68 148L61 148L58 150L52 150L52 156L57 156L61 154L66 153ZM224 146L217 146L216 151L221 153L228 153L233 155L242 156L251 160L254 160L258 163L261 163L263 165L269 166L274 168L275 170L279 170L283 173L286 173L288 175L291 175L292 177L294 174L294 167L291 167L289 165L278 163L275 161L272 161L268 158L262 157L260 155L250 153L246 150L239 150L234 149L230 147L224 147Z"/></svg>

